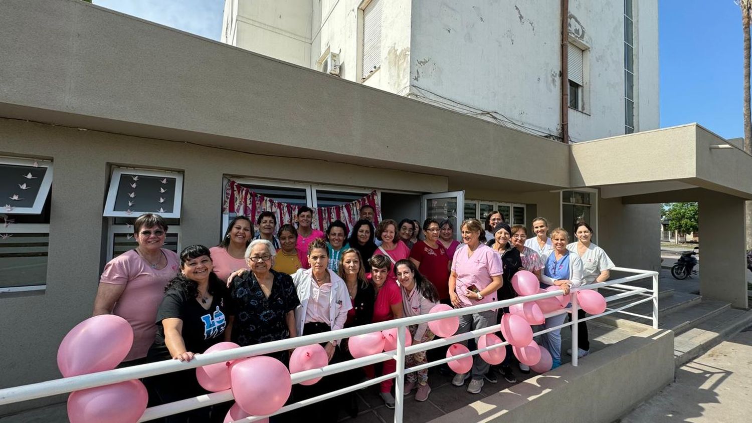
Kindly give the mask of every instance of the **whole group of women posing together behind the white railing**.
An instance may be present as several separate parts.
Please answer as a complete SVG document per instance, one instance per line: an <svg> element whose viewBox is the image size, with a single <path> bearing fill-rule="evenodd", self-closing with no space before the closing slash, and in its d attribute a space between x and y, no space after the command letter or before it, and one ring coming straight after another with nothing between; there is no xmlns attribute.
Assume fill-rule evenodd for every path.
<svg viewBox="0 0 752 423"><path fill-rule="evenodd" d="M311 228L313 210L308 207L299 209L297 228L281 225L276 236L268 230L269 225L276 225L273 214L259 216L257 222L268 224L256 237L253 221L237 216L218 246L188 246L179 256L163 248L168 229L165 220L144 214L134 223L138 246L106 265L94 314L114 313L132 325L133 347L121 366L167 358L190 361L223 340L254 345L418 316L439 302L470 307L514 298L510 279L520 269L539 276L541 286L556 285L568 292L582 283L608 279L608 269L613 267L608 255L590 242L592 230L584 223L577 226L578 242L568 244L566 231L555 229L548 238L547 222L536 218L536 237L527 239L524 226L510 227L501 213L494 212L500 219L493 221L491 228L492 220L487 219L485 231L476 219L462 222L459 243L453 239L450 220L426 219L423 239L413 240L418 231L405 228L413 226L412 221L405 219L398 225L384 219L374 227L372 207L370 216L368 211L361 210L361 219L349 237L347 225L340 221L332 222L326 233ZM271 219L273 222L266 222ZM484 243L487 232L488 245ZM458 333L495 325L499 318L496 310L462 316ZM545 326L562 321L563 315L555 316L547 319ZM409 330L412 343L434 337L426 324ZM559 365L559 331L543 337L554 365ZM587 354L584 322L580 337L582 350L578 353ZM332 340L323 347L330 363L352 358L347 339ZM273 355L287 363L287 351ZM511 353L507 356L499 371L508 381L516 382L511 371L514 358ZM425 352L405 358L408 366L426 362ZM386 361L381 369L365 367L327 376L316 385L296 385L291 398L314 397L373 378L377 371L392 373L395 366L394 361ZM496 382L494 371L475 355L472 370L455 375L452 382L462 386L470 379L468 392L477 394L484 380ZM205 392L193 370L145 382L153 404ZM393 379L381 382L381 398L390 408L395 403L392 388ZM414 389L415 400L428 398L427 370L406 375L405 392ZM355 415L354 394L348 395L348 400L335 398L309 407L316 408L314 412L324 420L335 421L341 408ZM227 407L197 409L166 421L223 421Z"/></svg>

